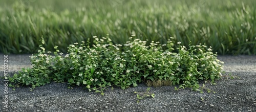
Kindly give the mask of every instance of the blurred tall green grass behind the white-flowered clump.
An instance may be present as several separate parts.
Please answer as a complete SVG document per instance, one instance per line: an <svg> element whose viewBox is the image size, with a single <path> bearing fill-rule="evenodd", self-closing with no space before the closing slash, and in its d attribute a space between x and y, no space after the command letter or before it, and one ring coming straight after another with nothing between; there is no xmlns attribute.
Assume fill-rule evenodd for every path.
<svg viewBox="0 0 256 112"><path fill-rule="evenodd" d="M0 0L0 52L35 53L45 48L110 34L125 43L132 34L142 40L169 37L183 46L199 43L223 55L256 54L254 0ZM178 44L175 44L178 47Z"/></svg>

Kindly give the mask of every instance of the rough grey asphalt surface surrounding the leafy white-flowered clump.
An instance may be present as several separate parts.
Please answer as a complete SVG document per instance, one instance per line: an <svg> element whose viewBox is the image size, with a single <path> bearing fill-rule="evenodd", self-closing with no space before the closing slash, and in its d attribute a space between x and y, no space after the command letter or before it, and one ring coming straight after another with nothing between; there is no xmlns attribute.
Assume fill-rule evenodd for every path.
<svg viewBox="0 0 256 112"><path fill-rule="evenodd" d="M4 54L0 63L1 76L4 75ZM30 55L8 55L9 75L30 65ZM138 87L122 90L107 89L104 96L89 92L81 86L68 89L67 83L49 83L36 87L33 91L27 86L8 87L8 105L5 103L4 81L0 80L0 111L256 111L256 56L218 56L225 62L225 77L217 85L205 84L216 93L199 93L190 88L175 91L174 86L151 87L155 98L145 98L137 103L134 92L145 92L143 83ZM4 103L3 103L4 102Z"/></svg>

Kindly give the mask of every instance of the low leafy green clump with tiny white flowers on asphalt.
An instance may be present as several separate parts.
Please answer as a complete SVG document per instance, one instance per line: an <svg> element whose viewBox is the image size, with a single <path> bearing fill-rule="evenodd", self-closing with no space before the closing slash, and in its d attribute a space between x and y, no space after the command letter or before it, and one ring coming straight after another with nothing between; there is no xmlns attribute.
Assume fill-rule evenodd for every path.
<svg viewBox="0 0 256 112"><path fill-rule="evenodd" d="M214 83L222 73L220 63L223 62L217 59L211 48L201 44L189 45L188 48L179 46L179 52L174 53L172 40L163 45L152 41L150 46L146 46L146 41L133 37L125 44L113 44L109 35L102 38L93 36L92 47L89 46L90 40L81 41L71 44L68 54L63 55L57 46L53 54L50 51L46 53L42 37L41 43L41 50L30 57L32 68L10 77L12 83L34 88L50 81L68 82L70 86L82 85L102 95L106 87L117 85L125 89L142 81L148 85L179 84L180 87L200 91L199 80ZM163 47L168 49L163 50Z"/></svg>

